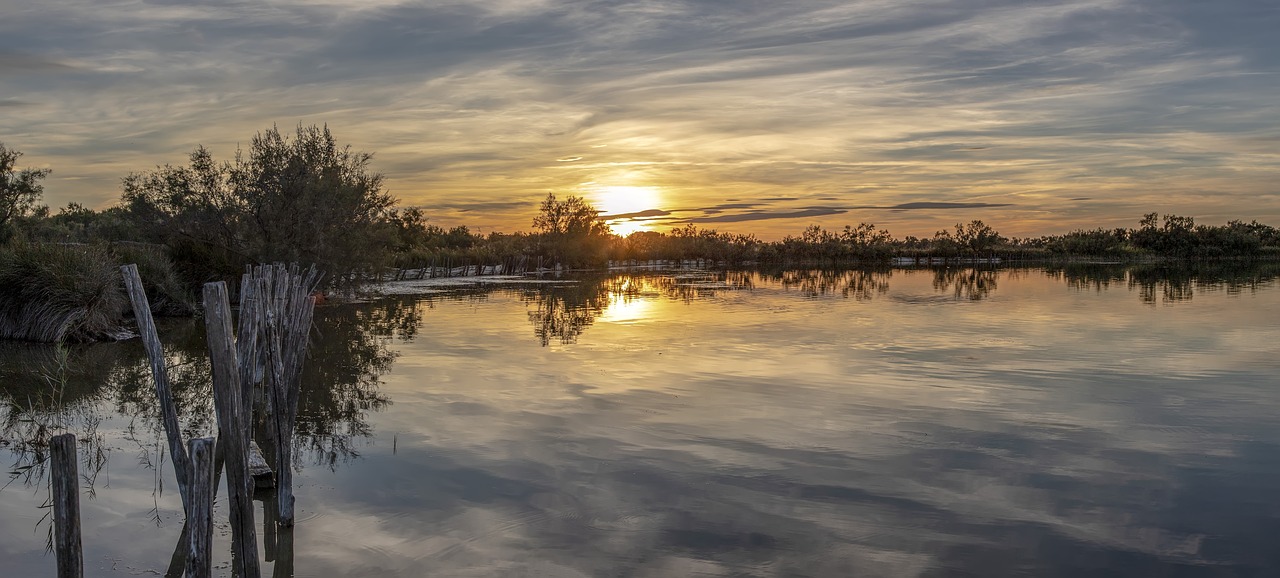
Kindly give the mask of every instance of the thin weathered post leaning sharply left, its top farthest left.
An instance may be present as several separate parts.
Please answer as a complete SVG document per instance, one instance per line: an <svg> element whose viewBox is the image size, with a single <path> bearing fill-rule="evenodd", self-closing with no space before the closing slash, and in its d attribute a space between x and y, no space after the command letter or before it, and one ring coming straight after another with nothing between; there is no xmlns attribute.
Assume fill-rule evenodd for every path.
<svg viewBox="0 0 1280 578"><path fill-rule="evenodd" d="M129 303L133 304L133 317L138 321L138 332L142 334L142 347L146 348L147 358L151 361L151 377L156 382L156 399L160 403L164 432L169 440L169 457L173 459L174 477L178 478L178 494L182 495L182 510L189 512L187 471L191 469L191 460L187 458L186 448L182 446L178 408L169 391L169 371L165 368L164 349L160 347L155 320L151 318L151 303L147 302L147 292L142 288L138 266L125 265L120 267L120 272L124 275L124 288L129 293Z"/></svg>

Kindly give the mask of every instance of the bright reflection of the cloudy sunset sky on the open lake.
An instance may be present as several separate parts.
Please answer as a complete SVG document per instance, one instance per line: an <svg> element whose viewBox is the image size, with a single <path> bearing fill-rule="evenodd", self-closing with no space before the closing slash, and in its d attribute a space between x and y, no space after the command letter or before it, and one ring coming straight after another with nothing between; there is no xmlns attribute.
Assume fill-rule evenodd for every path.
<svg viewBox="0 0 1280 578"><path fill-rule="evenodd" d="M1120 577L1280 566L1265 543L1280 529L1267 506L1280 482L1270 416L1280 399L1267 384L1280 367L1266 345L1280 327L1257 315L1277 304L1272 283L1256 301L1220 299L1225 285L1199 276L1193 288L1213 308L1152 316L1129 277L1101 293L1064 286L1078 275L1025 270L746 279L750 290L718 288L714 275L620 276L529 292L516 307L499 292L488 318L433 311L404 357L430 352L431 375L456 381L390 375L397 400L417 409L381 426L401 445L370 458L387 481L361 487L379 497L344 494L316 531L329 543L358 526L376 551L333 552L324 568ZM573 347L548 352L536 331L504 327L538 299L594 312L561 341Z"/></svg>

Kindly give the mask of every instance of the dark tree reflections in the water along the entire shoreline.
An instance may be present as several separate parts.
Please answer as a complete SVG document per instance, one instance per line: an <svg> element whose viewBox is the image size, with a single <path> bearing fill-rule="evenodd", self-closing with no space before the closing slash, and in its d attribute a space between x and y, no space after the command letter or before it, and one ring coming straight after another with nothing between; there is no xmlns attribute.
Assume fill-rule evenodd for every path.
<svg viewBox="0 0 1280 578"><path fill-rule="evenodd" d="M992 295L997 281L1015 279L1027 270L931 271L937 292L950 293L955 299L977 301ZM1125 288L1135 292L1143 303L1155 304L1185 302L1206 292L1256 292L1280 276L1280 263L1071 263L1043 271L1076 290ZM447 298L484 301L493 290L516 294L526 303L534 336L545 347L577 341L617 302L692 302L721 292L751 290L769 284L799 290L806 298L840 295L869 301L890 292L893 275L890 269L622 274L535 288L477 288L451 293ZM379 390L380 377L396 361L390 345L397 339L411 340L417 335L434 299L403 297L316 311L317 330L300 399L297 467L310 462L335 468L358 457L357 441L374 435L369 412L390 404ZM183 436L212 435L215 422L204 326L193 320L164 320L160 330ZM143 459L161 448L160 410L140 341L63 349L0 343L0 449L12 457L9 471L19 472L12 476L14 480L42 481L47 440L64 431L78 434L86 463L105 463L109 450L102 448L96 425L108 413L132 419L128 435L138 444ZM159 455L156 462L163 458Z"/></svg>

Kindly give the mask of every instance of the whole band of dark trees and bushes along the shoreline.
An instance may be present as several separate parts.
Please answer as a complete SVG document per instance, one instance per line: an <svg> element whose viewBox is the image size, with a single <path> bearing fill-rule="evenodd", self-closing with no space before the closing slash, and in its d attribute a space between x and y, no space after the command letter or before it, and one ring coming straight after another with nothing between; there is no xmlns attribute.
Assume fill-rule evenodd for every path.
<svg viewBox="0 0 1280 578"><path fill-rule="evenodd" d="M548 194L530 231L472 233L442 228L426 211L399 207L371 170L371 153L340 146L328 127L273 127L248 148L218 161L197 147L184 165L164 165L122 179L119 202L95 211L41 203L49 169L20 169L0 143L0 338L29 331L26 321L59 326L52 334L100 336L123 307L116 266L136 262L157 313L193 311L195 288L234 280L247 265L298 262L325 271L328 289L378 277L388 267L494 265L520 260L544 267L591 269L611 261L705 260L726 266L886 263L909 258L1158 260L1277 257L1280 230L1257 221L1197 224L1144 215L1132 229L1074 230L1006 238L980 220L932 238L895 238L872 224L765 242L750 234L686 224L667 233L614 235L580 197ZM63 303L58 307L37 303ZM50 315L91 303L73 321ZM101 312L101 315L99 315ZM8 321L6 321L8 320ZM27 324L29 325L29 324ZM99 331L101 332L101 331Z"/></svg>

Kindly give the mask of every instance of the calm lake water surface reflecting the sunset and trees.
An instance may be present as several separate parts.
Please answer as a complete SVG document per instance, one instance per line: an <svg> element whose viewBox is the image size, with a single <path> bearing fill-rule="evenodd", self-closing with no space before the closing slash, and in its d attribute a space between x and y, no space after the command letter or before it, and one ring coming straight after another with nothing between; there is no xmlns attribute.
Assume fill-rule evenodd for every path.
<svg viewBox="0 0 1280 578"><path fill-rule="evenodd" d="M264 574L1280 575L1277 270L632 272L324 307L300 519ZM202 327L161 330L209 434ZM0 490L0 575L54 573L27 441L59 427L87 441L87 575L165 573L182 508L146 372L137 340L0 345L0 458L36 464Z"/></svg>

